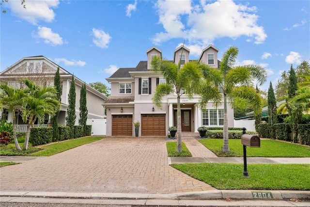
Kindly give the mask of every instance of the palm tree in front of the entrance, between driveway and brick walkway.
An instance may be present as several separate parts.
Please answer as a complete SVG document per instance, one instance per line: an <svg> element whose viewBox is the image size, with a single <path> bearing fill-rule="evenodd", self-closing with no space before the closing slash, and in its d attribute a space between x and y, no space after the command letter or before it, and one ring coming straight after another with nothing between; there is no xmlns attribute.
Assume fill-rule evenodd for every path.
<svg viewBox="0 0 310 207"><path fill-rule="evenodd" d="M181 60L180 60L181 61ZM199 85L203 79L203 71L209 68L208 65L198 61L187 62L181 67L181 63L174 64L161 57L154 57L151 65L152 70L159 72L166 79L166 83L160 83L156 86L155 94L152 98L155 107L162 109L162 98L169 94L177 96L177 152L182 152L182 129L181 129L181 105L182 95L192 98L198 92Z"/></svg>

